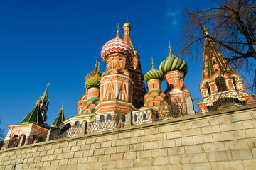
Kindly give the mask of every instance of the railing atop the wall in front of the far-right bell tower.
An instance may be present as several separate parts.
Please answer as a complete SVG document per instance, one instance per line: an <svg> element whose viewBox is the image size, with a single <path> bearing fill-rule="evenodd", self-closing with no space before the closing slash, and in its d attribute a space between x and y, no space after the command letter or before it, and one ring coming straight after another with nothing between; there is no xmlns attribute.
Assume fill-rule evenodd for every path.
<svg viewBox="0 0 256 170"><path fill-rule="evenodd" d="M255 103L256 86L211 94L204 98L193 99L196 113L206 113L223 108L244 106Z"/></svg>

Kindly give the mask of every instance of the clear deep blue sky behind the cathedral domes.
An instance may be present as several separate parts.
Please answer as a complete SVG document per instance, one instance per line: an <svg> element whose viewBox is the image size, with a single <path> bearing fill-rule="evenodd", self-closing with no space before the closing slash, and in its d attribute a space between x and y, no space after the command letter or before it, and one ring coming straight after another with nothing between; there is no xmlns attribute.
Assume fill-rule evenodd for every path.
<svg viewBox="0 0 256 170"><path fill-rule="evenodd" d="M131 38L145 74L182 42L183 9L208 8L210 1L1 1L0 2L0 119L21 123L50 82L48 123L64 101L65 118L77 114L84 79L95 67L95 56L116 35L117 22L129 18ZM124 31L121 31L123 34ZM122 38L122 35L121 35ZM178 56L182 57L182 56ZM200 98L201 61L186 60L185 86ZM100 71L105 71L100 59ZM163 89L166 85L163 81Z"/></svg>

